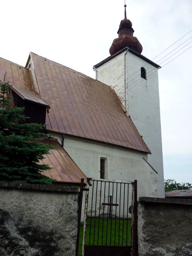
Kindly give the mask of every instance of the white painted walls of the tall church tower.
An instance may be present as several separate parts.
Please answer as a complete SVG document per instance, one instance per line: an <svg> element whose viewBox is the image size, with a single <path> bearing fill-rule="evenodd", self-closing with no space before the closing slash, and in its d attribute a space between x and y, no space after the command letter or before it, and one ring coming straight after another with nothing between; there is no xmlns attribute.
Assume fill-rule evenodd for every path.
<svg viewBox="0 0 192 256"><path fill-rule="evenodd" d="M123 105L125 53L97 68L97 79L112 85ZM147 80L141 78L141 67L146 70ZM131 52L126 54L126 111L152 152L148 155L148 162L158 172L158 197L164 198L158 72L157 68Z"/></svg>

